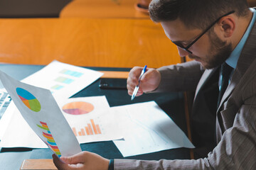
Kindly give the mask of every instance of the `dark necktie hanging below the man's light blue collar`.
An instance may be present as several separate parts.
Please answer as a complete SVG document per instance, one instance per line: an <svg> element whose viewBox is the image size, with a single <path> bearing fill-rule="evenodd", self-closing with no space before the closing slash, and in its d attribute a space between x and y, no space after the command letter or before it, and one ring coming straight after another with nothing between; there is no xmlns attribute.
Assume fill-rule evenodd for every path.
<svg viewBox="0 0 256 170"><path fill-rule="evenodd" d="M220 77L219 77L219 96L218 96L218 105L220 105L221 98L223 97L223 94L225 93L225 90L228 87L229 80L230 80L230 74L233 71L233 68L230 67L225 62L220 67Z"/></svg>

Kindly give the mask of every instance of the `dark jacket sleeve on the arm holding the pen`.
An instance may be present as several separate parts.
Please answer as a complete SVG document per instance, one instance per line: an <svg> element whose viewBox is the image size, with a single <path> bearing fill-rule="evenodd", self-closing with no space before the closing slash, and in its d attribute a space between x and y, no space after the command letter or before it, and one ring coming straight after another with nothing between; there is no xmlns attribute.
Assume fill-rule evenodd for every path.
<svg viewBox="0 0 256 170"><path fill-rule="evenodd" d="M160 67L161 82L153 92L196 91L204 69L196 61Z"/></svg>

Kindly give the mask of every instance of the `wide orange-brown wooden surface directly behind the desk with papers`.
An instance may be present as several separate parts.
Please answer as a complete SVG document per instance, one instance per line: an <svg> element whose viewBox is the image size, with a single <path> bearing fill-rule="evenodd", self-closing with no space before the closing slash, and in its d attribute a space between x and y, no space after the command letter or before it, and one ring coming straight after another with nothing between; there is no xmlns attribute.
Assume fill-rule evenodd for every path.
<svg viewBox="0 0 256 170"><path fill-rule="evenodd" d="M0 19L0 61L86 67L161 67L180 62L176 46L149 19Z"/></svg>

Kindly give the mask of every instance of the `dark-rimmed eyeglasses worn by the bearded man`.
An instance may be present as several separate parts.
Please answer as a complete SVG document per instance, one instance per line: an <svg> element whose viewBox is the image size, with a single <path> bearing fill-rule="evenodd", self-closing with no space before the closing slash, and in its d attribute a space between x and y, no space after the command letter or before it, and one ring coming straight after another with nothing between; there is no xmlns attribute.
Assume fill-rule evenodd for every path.
<svg viewBox="0 0 256 170"><path fill-rule="evenodd" d="M199 40L199 38L201 38L208 30L210 30L210 28L212 28L215 23L218 23L218 21L223 18L224 16L228 16L230 15L231 13L235 13L235 11L230 11L229 13L226 13L225 15L223 16L220 16L220 18L218 18L216 21L214 21L212 24L210 24L210 26L208 26L208 28L206 28L206 30L203 31L203 33L201 33L200 35L198 35L198 37L193 40L188 46L184 47L184 45L181 43L181 42L174 42L174 41L171 41L171 42L174 42L175 45L177 45L178 47L180 47L181 49L183 50L186 50L186 52L192 54L192 52L190 50L188 50L188 48L190 48L197 40Z"/></svg>

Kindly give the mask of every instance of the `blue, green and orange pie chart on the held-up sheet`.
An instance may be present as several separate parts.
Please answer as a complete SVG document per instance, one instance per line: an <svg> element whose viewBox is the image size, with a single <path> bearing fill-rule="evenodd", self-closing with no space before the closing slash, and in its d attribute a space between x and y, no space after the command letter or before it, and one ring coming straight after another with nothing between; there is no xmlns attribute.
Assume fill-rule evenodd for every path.
<svg viewBox="0 0 256 170"><path fill-rule="evenodd" d="M38 112L41 110L41 104L39 103L38 99L36 99L33 94L29 93L25 89L16 88L16 92L18 97L21 98L21 101L31 110Z"/></svg>

